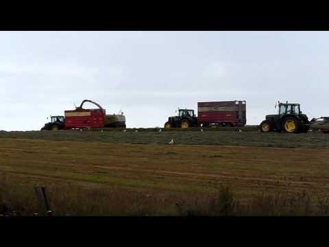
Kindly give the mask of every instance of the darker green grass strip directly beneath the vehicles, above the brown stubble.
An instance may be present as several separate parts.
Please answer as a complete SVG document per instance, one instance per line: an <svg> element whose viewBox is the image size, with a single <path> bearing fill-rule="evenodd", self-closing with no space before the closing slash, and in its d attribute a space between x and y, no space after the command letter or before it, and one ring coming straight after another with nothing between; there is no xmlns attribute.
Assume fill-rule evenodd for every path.
<svg viewBox="0 0 329 247"><path fill-rule="evenodd" d="M182 145L243 145L271 148L329 148L328 134L308 132L300 134L263 133L254 131L75 131L61 130L0 132L1 138L41 139L51 141L82 141L102 143L167 144L171 139Z"/></svg>

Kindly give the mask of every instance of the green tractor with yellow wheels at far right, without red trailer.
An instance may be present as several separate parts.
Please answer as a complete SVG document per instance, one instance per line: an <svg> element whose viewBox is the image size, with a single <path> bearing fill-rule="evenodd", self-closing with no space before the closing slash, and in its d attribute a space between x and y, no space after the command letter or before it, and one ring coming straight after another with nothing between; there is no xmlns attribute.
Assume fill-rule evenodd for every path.
<svg viewBox="0 0 329 247"><path fill-rule="evenodd" d="M267 115L260 124L261 132L308 132L310 121L305 114L300 111L300 104L278 102L279 112L277 115Z"/></svg>

